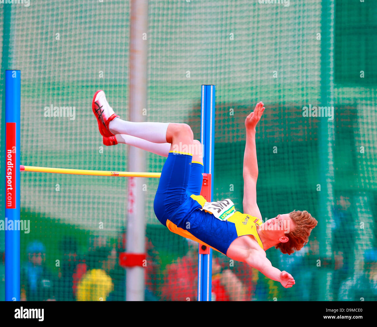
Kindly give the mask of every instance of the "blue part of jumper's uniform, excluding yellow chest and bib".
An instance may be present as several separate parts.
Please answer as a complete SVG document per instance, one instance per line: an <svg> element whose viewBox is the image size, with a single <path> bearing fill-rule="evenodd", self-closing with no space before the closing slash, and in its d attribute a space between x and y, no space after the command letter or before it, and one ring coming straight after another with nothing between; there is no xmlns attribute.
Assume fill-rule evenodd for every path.
<svg viewBox="0 0 377 327"><path fill-rule="evenodd" d="M153 203L156 217L176 234L198 239L226 255L230 243L238 237L236 227L202 211L190 197L200 195L203 181L203 165L191 161L191 155L169 153Z"/></svg>

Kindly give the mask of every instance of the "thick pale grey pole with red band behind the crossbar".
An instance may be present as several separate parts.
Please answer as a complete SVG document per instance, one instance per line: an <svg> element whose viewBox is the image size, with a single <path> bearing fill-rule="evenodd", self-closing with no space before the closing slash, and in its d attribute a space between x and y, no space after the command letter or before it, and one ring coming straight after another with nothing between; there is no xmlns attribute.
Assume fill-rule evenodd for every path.
<svg viewBox="0 0 377 327"><path fill-rule="evenodd" d="M148 0L131 1L130 17L130 89L129 120L145 121L147 107L147 40ZM147 35L147 34L144 34ZM146 167L145 151L129 146L128 170L143 172ZM144 178L130 177L128 181L127 253L145 253ZM126 301L144 301L144 268L126 268Z"/></svg>

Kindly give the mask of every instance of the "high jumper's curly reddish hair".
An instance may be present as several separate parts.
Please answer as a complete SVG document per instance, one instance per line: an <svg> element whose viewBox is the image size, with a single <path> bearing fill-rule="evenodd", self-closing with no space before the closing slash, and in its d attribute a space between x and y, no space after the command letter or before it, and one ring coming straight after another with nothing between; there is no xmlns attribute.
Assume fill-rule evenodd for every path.
<svg viewBox="0 0 377 327"><path fill-rule="evenodd" d="M279 248L282 253L292 254L294 251L299 251L308 243L311 230L317 226L317 220L307 211L292 211L289 214L278 215L289 221L289 232L285 233L285 237L281 237L280 243L275 246ZM288 216L288 217L287 217ZM280 231L281 232L281 231Z"/></svg>

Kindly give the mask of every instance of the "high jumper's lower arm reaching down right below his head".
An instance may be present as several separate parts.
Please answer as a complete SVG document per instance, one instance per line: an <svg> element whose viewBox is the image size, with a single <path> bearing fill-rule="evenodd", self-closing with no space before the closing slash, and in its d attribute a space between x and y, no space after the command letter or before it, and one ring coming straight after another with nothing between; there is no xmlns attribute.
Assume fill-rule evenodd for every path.
<svg viewBox="0 0 377 327"><path fill-rule="evenodd" d="M272 279L273 281L280 282L285 288L290 288L296 284L291 274L287 273L287 271L280 271L279 269L273 267L271 261L263 256L259 251L251 251L245 262L251 267L259 270L266 277Z"/></svg>

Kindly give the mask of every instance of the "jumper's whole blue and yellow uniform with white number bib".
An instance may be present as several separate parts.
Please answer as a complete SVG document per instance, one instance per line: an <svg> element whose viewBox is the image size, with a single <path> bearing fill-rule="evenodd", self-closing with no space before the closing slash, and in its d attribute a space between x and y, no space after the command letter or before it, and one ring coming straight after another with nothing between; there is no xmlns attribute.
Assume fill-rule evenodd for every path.
<svg viewBox="0 0 377 327"><path fill-rule="evenodd" d="M207 202L200 194L203 165L192 155L169 153L154 201L158 220L178 235L227 254L239 236L252 235L264 250L257 232L262 221L236 211L233 202Z"/></svg>

